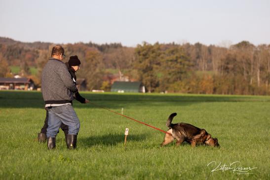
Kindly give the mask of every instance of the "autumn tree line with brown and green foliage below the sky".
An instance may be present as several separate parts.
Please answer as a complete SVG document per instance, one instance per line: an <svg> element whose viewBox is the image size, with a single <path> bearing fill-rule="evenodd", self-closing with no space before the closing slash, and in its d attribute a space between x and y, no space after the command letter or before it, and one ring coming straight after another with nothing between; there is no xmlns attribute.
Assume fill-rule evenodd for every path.
<svg viewBox="0 0 270 180"><path fill-rule="evenodd" d="M0 37L0 76L10 77L9 67L19 66L19 74L31 77L40 86L40 73L50 58L54 44L24 43ZM79 78L88 90L110 89L108 76L128 76L141 81L148 92L196 94L270 94L270 45L255 46L241 41L230 47L201 43L143 42L136 47L121 43L62 44L68 57L81 60ZM29 67L37 68L36 74Z"/></svg>

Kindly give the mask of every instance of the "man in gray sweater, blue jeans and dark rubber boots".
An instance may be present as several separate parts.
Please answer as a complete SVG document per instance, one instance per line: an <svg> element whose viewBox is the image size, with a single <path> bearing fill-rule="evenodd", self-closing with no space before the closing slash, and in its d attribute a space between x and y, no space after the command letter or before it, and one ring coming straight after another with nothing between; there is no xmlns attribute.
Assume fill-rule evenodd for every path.
<svg viewBox="0 0 270 180"><path fill-rule="evenodd" d="M66 137L68 148L76 148L80 123L72 107L72 100L73 93L78 90L67 66L62 62L65 58L64 48L60 45L54 46L51 57L41 76L42 96L48 111L47 146L48 149L56 147L55 137L63 123L69 126Z"/></svg>

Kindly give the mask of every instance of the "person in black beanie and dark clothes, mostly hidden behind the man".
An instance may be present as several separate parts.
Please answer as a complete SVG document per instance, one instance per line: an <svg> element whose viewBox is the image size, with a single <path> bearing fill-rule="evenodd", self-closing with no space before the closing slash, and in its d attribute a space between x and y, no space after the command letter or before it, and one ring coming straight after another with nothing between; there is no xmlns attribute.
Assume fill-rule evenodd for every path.
<svg viewBox="0 0 270 180"><path fill-rule="evenodd" d="M79 65L80 65L80 60L78 59L77 56L71 56L69 61L65 63L70 74L71 74L71 78L73 79L73 81L76 84L76 74L75 72L77 72L79 70ZM85 98L83 98L82 96L80 96L79 92L75 92L73 94L74 98L79 101L80 103L88 103L89 101ZM38 134L38 141L39 143L45 143L46 142L46 133L47 133L47 128L48 128L48 111L46 110L46 117L45 117L45 121L44 121L44 125L41 128L40 133ZM65 136L67 137L68 133L69 133L69 126L65 125L65 124L61 124L60 128L64 131Z"/></svg>

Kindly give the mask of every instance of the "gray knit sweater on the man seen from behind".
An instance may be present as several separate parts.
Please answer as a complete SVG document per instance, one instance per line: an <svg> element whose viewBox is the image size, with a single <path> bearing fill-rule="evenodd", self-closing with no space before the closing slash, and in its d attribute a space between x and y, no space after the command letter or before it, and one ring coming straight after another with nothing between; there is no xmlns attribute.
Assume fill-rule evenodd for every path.
<svg viewBox="0 0 270 180"><path fill-rule="evenodd" d="M49 59L41 76L41 91L45 104L71 103L77 87L67 66L60 60Z"/></svg>

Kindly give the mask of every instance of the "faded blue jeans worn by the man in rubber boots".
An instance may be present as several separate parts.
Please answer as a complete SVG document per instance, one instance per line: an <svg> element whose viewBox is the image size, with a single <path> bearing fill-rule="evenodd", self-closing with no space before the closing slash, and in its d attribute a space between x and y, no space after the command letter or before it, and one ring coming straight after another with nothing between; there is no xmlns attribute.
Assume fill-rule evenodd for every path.
<svg viewBox="0 0 270 180"><path fill-rule="evenodd" d="M48 108L48 128L47 137L55 138L59 132L61 123L69 126L69 134L77 135L79 132L79 119L71 105L63 105Z"/></svg>

